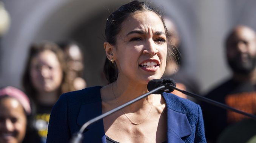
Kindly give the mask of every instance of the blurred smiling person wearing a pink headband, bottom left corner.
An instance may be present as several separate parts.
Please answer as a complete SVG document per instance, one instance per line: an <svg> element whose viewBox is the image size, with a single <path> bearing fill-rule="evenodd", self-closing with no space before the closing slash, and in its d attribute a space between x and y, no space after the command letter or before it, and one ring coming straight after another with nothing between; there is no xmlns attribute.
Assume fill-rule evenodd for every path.
<svg viewBox="0 0 256 143"><path fill-rule="evenodd" d="M39 143L30 126L30 114L25 93L11 86L0 89L0 143Z"/></svg>

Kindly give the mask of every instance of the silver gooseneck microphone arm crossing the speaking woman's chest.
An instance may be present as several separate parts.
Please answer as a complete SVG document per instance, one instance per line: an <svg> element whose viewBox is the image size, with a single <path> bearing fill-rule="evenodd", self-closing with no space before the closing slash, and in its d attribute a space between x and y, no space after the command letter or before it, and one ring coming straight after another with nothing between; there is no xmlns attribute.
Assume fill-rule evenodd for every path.
<svg viewBox="0 0 256 143"><path fill-rule="evenodd" d="M167 85L167 84L166 84L166 85ZM77 132L76 134L73 135L73 137L72 137L71 140L70 140L70 143L81 143L81 141L82 141L82 139L83 139L83 131L84 131L84 130L86 129L86 127L89 126L91 123L97 122L98 120L103 119L104 117L106 117L106 116L108 116L108 115L110 115L110 114L112 114L112 113L114 113L114 112L116 112L116 111L118 111L118 110L120 110L120 109L122 109L122 108L124 108L124 107L126 107L126 106L128 106L128 105L130 105L130 104L132 104L132 103L134 103L134 102L136 102L136 101L138 101L138 100L140 100L140 99L142 99L142 98L144 98L144 97L146 97L146 96L148 96L148 95L150 95L150 94L152 94L152 93L158 91L158 90L160 90L160 89L163 89L163 88L165 88L165 87L166 87L165 85L162 85L162 86L160 86L160 87L157 87L157 88L151 90L151 91L148 92L148 93L145 93L145 94L143 94L143 95L141 95L141 96L139 96L139 97L137 97L137 98L135 98L135 99L133 99L133 100L131 100L131 101L129 101L129 102L126 102L126 103L123 104L123 105L120 105L119 107L116 107L116 108L114 108L114 109L112 109L112 110L110 110L110 111L107 111L107 112L104 113L104 114L101 114L100 116L97 116L97 117L95 117L95 118L93 118L93 119L87 121L87 122L86 122L85 124L83 124L83 126L80 128L79 132ZM168 89L167 89L167 90L168 90Z"/></svg>

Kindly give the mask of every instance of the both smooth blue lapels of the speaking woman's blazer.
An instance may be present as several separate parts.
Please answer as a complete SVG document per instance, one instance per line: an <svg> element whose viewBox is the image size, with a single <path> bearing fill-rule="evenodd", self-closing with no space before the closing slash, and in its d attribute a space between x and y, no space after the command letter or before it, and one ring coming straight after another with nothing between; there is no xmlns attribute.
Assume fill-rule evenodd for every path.
<svg viewBox="0 0 256 143"><path fill-rule="evenodd" d="M175 95L163 94L165 100L168 100L167 96ZM170 103L171 102L167 102L167 104ZM187 116L186 114L179 113L168 107L169 105L167 105L167 141L168 143L184 143L182 137L192 134L192 129L190 123L188 122ZM100 114L102 114L101 101L91 104L84 104L80 107L77 117L77 124L82 126L85 122L99 116ZM83 135L84 138L89 139L87 139L86 142L106 143L103 120L99 120L96 123L89 125Z"/></svg>

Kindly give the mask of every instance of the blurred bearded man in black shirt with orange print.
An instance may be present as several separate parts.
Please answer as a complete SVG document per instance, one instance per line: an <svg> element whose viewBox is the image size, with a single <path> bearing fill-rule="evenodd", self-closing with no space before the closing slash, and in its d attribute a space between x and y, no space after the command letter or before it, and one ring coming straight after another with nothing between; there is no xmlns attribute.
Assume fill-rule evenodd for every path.
<svg viewBox="0 0 256 143"><path fill-rule="evenodd" d="M256 114L256 33L247 26L234 27L227 36L225 47L227 63L233 75L205 97ZM202 104L202 109L209 142L216 142L228 125L246 118L207 103Z"/></svg>

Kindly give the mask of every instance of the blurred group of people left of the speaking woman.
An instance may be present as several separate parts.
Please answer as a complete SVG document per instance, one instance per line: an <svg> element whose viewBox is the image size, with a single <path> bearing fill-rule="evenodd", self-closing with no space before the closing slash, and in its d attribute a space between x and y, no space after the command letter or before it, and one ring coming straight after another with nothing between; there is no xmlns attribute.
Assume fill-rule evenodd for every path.
<svg viewBox="0 0 256 143"><path fill-rule="evenodd" d="M86 87L83 55L74 42L32 44L23 74L24 92L0 90L0 142L45 143L51 109L62 93Z"/></svg>

